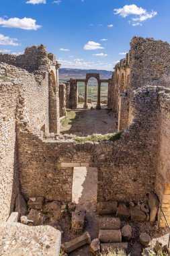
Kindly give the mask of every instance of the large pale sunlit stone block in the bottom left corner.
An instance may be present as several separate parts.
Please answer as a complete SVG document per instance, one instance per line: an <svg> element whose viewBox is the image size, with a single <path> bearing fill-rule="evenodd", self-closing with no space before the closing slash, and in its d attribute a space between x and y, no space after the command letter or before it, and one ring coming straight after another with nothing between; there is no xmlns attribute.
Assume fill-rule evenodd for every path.
<svg viewBox="0 0 170 256"><path fill-rule="evenodd" d="M0 255L60 254L60 231L51 226L26 226L17 222L0 222Z"/></svg>

